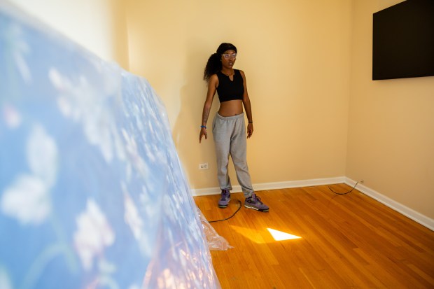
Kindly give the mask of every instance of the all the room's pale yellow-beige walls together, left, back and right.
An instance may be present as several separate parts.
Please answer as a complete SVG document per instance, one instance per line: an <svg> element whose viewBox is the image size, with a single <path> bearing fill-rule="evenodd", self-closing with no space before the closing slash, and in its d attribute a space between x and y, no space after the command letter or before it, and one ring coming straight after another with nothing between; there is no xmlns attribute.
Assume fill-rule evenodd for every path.
<svg viewBox="0 0 434 289"><path fill-rule="evenodd" d="M218 186L212 137L198 143L202 73L217 45L230 41L253 106L253 183L363 178L434 218L434 78L371 80L372 13L398 2L13 0L150 80L193 189ZM217 108L215 99L213 114ZM199 171L201 162L211 169ZM233 169L231 177L236 184Z"/></svg>

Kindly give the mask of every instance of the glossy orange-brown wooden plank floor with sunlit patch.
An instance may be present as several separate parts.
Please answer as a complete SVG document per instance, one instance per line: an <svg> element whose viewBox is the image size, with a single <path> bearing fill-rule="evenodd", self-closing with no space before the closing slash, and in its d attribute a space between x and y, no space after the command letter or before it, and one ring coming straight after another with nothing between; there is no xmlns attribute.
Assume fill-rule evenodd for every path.
<svg viewBox="0 0 434 289"><path fill-rule="evenodd" d="M331 186L338 192L348 185ZM353 190L327 185L258 191L268 213L244 208L241 193L195 197L234 248L211 251L225 288L434 288L434 232ZM300 237L275 241L269 230Z"/></svg>

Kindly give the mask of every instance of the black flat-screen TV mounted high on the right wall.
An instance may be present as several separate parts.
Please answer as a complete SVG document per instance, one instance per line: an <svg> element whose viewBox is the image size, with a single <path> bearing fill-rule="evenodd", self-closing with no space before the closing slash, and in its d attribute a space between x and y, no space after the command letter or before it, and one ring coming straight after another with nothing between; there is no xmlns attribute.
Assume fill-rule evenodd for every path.
<svg viewBox="0 0 434 289"><path fill-rule="evenodd" d="M434 0L374 13L372 32L372 80L434 76Z"/></svg>

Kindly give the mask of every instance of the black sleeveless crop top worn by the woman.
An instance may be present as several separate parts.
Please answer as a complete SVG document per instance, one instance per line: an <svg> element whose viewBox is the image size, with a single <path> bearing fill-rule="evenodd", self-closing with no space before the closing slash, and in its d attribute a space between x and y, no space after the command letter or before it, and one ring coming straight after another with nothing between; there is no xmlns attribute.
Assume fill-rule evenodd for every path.
<svg viewBox="0 0 434 289"><path fill-rule="evenodd" d="M221 71L217 72L218 77L218 99L220 102L243 99L244 84L241 72L238 69L234 69L234 80L230 80L229 76L225 76Z"/></svg>

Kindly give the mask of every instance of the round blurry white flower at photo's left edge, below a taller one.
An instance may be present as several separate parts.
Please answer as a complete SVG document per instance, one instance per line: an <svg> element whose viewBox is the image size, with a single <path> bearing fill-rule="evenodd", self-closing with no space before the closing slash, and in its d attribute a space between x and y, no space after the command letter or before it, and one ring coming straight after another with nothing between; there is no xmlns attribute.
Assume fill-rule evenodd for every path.
<svg viewBox="0 0 434 289"><path fill-rule="evenodd" d="M46 183L38 176L20 176L1 197L1 211L23 225L43 223L51 203Z"/></svg>

